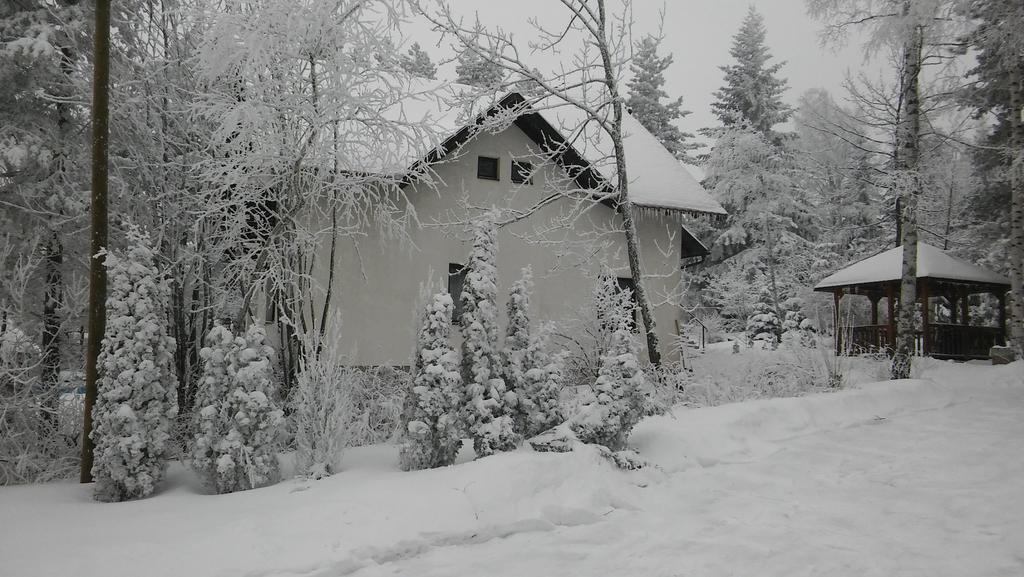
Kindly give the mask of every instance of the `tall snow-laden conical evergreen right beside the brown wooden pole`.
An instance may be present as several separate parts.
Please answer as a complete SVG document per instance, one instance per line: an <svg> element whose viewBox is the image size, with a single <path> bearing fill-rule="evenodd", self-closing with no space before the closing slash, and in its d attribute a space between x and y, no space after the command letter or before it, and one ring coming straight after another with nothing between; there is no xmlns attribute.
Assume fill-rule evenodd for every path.
<svg viewBox="0 0 1024 577"><path fill-rule="evenodd" d="M127 231L124 254L106 254L110 292L92 409L93 496L125 501L153 493L173 451L174 339L167 335L168 289L148 236Z"/></svg>

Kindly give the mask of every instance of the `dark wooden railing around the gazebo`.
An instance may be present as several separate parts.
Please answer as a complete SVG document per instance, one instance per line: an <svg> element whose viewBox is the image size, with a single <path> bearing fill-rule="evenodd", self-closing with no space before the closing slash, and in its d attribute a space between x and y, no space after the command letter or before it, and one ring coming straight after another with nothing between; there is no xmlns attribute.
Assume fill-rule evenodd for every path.
<svg viewBox="0 0 1024 577"><path fill-rule="evenodd" d="M1002 332L996 327L972 327L965 325L929 325L928 347L925 347L925 333L918 331L914 338L914 355L929 355L949 359L987 359L988 349L995 344L1004 344ZM856 355L891 351L893 341L889 325L862 325L845 331L842 348Z"/></svg>

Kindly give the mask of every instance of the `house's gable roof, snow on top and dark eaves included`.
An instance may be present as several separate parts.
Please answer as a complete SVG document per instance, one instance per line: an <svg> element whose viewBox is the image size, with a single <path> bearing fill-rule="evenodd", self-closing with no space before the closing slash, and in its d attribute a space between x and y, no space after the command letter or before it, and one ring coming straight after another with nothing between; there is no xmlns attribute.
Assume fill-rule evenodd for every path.
<svg viewBox="0 0 1024 577"><path fill-rule="evenodd" d="M394 114L402 119L429 119L439 142L424 150L410 150L408 164L414 173L422 173L430 164L440 162L476 134L486 131L486 120L505 116L530 139L546 151L560 151L555 160L573 176L582 188L608 190L616 181L616 166L610 137L588 123L588 117L574 107L531 107L519 92L508 92L482 106L451 106L465 99L464 87L444 85L441 92L424 92L402 100ZM463 91L460 91L463 90ZM449 98L451 96L452 98ZM697 182L696 178L629 113L623 116L623 146L626 152L630 200L638 206L677 210L696 214L724 216L726 211Z"/></svg>

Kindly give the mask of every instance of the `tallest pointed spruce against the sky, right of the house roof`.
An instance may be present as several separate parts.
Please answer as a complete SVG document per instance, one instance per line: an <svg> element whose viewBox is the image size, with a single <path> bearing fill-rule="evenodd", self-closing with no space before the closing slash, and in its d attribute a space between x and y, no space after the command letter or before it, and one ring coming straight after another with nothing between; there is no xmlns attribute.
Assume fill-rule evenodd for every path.
<svg viewBox="0 0 1024 577"><path fill-rule="evenodd" d="M736 63L721 67L725 86L715 92L712 110L725 126L745 121L769 135L773 126L788 120L793 110L781 98L786 81L776 76L785 63L767 66L772 56L765 45L764 17L753 5L732 37L729 53Z"/></svg>

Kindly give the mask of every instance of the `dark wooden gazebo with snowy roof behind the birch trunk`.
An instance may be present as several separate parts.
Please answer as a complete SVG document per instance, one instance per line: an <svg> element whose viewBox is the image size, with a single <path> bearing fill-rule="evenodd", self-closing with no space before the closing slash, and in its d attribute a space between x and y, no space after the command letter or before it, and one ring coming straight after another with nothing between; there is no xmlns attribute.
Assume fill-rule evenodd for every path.
<svg viewBox="0 0 1024 577"><path fill-rule="evenodd" d="M830 292L836 301L836 353L891 351L896 341L896 306L903 269L903 248L897 247L855 262L818 283L814 290ZM951 256L934 246L918 244L918 355L941 359L987 359L989 348L1006 344L1007 292L1010 280ZM969 297L989 293L998 300L998 326L971 324ZM850 294L871 303L869 325L843 328L840 301ZM879 322L879 302L885 298L888 323ZM935 322L932 303L943 298L951 312L948 322ZM846 334L844 334L846 333ZM845 340L848 339L848 340Z"/></svg>

